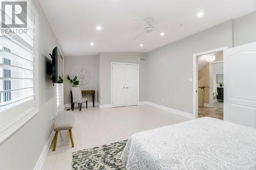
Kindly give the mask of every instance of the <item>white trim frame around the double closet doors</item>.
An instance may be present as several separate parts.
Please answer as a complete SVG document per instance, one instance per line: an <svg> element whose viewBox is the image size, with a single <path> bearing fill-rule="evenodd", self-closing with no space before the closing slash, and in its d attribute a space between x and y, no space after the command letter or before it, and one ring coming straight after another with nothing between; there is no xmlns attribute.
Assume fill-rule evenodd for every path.
<svg viewBox="0 0 256 170"><path fill-rule="evenodd" d="M124 63L124 62L110 62L110 95L111 95L111 107L113 107L113 88L112 88L112 84L113 84L113 64L122 64L122 65L137 65L137 68L138 68L138 71L137 71L137 99L138 99L138 102L137 102L137 105L139 104L139 64L137 63Z"/></svg>

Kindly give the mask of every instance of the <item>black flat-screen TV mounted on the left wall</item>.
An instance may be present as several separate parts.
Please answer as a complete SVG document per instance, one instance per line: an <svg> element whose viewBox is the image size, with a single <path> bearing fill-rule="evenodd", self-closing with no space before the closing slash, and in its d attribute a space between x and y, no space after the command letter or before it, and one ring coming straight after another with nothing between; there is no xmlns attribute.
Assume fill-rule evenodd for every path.
<svg viewBox="0 0 256 170"><path fill-rule="evenodd" d="M47 72L52 75L51 79L53 83L63 83L63 58L57 46L53 48L50 56L52 57L52 61L47 65Z"/></svg>

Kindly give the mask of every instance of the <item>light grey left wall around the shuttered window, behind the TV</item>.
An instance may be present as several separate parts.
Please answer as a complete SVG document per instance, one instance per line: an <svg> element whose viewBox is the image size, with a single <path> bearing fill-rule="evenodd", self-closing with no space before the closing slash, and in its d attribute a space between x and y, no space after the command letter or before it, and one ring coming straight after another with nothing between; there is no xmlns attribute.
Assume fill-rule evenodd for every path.
<svg viewBox="0 0 256 170"><path fill-rule="evenodd" d="M46 75L45 56L57 46L55 36L38 0L32 0L39 13L39 98L40 108L27 124L0 145L0 169L33 169L52 131L56 96L50 77Z"/></svg>

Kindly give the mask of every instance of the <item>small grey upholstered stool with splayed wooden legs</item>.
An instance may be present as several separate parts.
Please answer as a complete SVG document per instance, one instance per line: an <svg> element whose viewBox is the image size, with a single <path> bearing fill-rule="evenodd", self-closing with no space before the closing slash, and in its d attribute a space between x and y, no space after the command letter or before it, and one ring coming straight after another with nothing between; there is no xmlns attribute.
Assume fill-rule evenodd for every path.
<svg viewBox="0 0 256 170"><path fill-rule="evenodd" d="M53 123L53 130L55 131L53 150L55 151L58 132L62 130L69 130L69 136L72 144L72 148L74 148L74 141L71 129L74 127L75 115L71 111L59 112Z"/></svg>

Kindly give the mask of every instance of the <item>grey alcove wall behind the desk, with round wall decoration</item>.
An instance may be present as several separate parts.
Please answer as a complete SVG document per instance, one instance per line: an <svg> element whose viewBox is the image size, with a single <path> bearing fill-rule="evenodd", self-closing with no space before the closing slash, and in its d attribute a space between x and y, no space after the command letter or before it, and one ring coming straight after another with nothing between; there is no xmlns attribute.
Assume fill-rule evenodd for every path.
<svg viewBox="0 0 256 170"><path fill-rule="evenodd" d="M97 88L98 88L98 58L97 56L81 56L81 57L65 57L65 70L64 70L64 102L65 104L71 103L71 84L67 81L67 75L72 79L74 72L77 69L87 69L90 72L91 80L86 85L79 85L82 90L95 90L95 102L97 102ZM92 95L83 94L83 97L88 98L88 102L92 102Z"/></svg>

